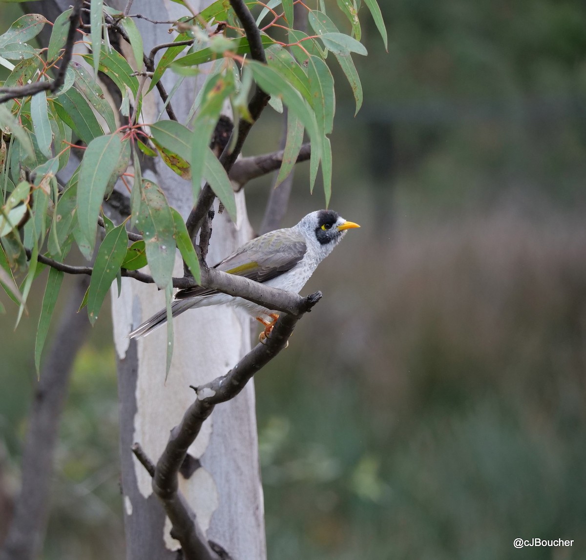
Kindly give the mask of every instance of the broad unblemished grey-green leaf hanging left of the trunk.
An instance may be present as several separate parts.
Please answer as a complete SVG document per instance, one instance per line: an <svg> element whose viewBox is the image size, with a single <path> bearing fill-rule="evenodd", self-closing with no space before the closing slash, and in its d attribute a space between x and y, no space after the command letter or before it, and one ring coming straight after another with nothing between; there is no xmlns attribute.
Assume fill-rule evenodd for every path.
<svg viewBox="0 0 586 560"><path fill-rule="evenodd" d="M96 244L96 227L100 206L122 151L117 134L100 136L87 146L81 161L77 188L77 220L90 250Z"/></svg>

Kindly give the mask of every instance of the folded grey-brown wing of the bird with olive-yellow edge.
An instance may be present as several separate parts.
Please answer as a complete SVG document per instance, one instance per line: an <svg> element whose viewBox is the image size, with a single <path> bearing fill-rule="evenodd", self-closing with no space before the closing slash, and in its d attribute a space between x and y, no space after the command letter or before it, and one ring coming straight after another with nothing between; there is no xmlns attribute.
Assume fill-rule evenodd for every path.
<svg viewBox="0 0 586 560"><path fill-rule="evenodd" d="M270 231L248 243L214 266L222 272L266 282L291 270L307 251L301 234L292 229ZM207 296L217 293L206 288L186 288L175 294L175 299Z"/></svg>

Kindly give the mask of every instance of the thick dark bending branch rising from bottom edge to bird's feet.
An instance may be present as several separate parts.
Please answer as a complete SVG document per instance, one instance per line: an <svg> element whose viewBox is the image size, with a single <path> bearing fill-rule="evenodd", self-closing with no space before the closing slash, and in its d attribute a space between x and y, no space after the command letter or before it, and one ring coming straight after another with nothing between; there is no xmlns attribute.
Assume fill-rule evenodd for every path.
<svg viewBox="0 0 586 560"><path fill-rule="evenodd" d="M301 298L297 316L281 317L264 344L257 344L226 375L196 388L197 398L187 409L181 422L171 430L171 436L156 463L154 473L152 463L141 447L137 443L132 446L132 451L151 473L152 488L161 499L165 512L173 524L173 537L181 543L185 558L219 558L210 548L195 515L178 489L179 469L189 446L197 438L203 422L212 414L214 407L220 402L236 397L250 378L287 346L298 320L304 313L311 311L321 298L321 292Z"/></svg>

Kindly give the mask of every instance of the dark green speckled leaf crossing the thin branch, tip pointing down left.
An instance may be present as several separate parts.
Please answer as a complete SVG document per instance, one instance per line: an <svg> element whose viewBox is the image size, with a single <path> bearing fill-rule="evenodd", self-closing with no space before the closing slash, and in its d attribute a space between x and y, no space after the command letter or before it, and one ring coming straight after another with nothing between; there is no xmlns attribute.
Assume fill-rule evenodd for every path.
<svg viewBox="0 0 586 560"><path fill-rule="evenodd" d="M98 249L87 296L87 315L92 325L96 322L108 289L124 262L127 246L128 233L126 224L122 223L106 234Z"/></svg>

